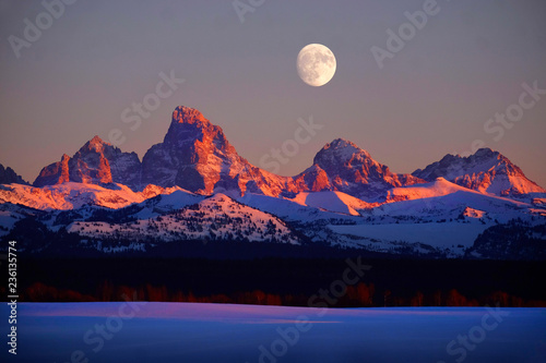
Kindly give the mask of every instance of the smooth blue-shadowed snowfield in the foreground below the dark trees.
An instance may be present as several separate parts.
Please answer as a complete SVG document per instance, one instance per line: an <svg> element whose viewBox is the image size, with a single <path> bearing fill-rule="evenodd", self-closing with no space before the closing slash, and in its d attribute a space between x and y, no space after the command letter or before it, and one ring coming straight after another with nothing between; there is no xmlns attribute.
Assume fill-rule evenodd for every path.
<svg viewBox="0 0 546 363"><path fill-rule="evenodd" d="M17 355L4 343L2 362L546 360L545 308L22 303L17 315Z"/></svg>

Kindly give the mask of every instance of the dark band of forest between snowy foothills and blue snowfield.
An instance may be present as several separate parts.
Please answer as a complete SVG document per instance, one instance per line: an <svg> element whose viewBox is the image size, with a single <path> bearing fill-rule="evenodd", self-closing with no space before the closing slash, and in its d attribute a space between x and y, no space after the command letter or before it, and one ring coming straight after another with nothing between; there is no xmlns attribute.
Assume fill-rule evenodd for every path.
<svg viewBox="0 0 546 363"><path fill-rule="evenodd" d="M349 257L356 261L357 257ZM546 306L541 262L365 258L342 295L346 258L21 258L20 301L217 302L308 306ZM352 275L354 276L354 275ZM2 295L5 286L1 285Z"/></svg>

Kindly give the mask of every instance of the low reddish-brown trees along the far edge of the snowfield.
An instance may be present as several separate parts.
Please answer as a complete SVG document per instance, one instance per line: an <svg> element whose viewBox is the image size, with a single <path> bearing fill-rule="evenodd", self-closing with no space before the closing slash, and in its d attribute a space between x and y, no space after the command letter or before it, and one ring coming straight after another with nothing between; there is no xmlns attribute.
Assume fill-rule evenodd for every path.
<svg viewBox="0 0 546 363"><path fill-rule="evenodd" d="M3 288L0 292L4 293ZM106 280L93 294L84 294L71 289L57 289L41 282L34 282L21 293L20 301L28 302L108 302L123 300L157 302L199 302L257 305L312 306L307 294L277 294L262 290L236 291L228 294L216 293L195 295L192 291L169 290L166 286L145 283L139 287L115 286ZM546 301L524 300L503 291L484 294L479 299L468 299L455 289L436 290L432 293L416 291L401 294L395 290L376 291L373 283L359 282L348 286L345 293L330 307L380 307L380 306L484 306L545 307Z"/></svg>

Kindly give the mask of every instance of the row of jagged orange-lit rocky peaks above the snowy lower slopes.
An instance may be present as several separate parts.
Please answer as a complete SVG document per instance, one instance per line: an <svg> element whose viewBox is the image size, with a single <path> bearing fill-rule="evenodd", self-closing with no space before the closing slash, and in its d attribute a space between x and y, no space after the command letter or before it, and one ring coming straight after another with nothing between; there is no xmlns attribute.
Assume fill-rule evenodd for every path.
<svg viewBox="0 0 546 363"><path fill-rule="evenodd" d="M177 107L163 143L152 146L142 162L135 153L93 137L72 157L45 167L35 186L63 182L120 183L133 191L149 184L180 186L193 193L282 193L340 191L376 201L392 187L408 186L443 177L455 184L496 195L544 193L508 158L479 149L467 158L447 155L412 174L393 173L355 144L336 138L314 157L313 165L295 177L281 177L252 166L237 154L222 128L197 109Z"/></svg>

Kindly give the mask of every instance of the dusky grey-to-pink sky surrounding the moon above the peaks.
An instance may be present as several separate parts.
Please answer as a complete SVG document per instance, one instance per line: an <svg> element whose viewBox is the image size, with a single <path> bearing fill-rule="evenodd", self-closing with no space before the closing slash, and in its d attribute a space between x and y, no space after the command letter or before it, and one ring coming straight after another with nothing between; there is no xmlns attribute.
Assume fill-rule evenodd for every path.
<svg viewBox="0 0 546 363"><path fill-rule="evenodd" d="M47 0L52 1L52 0ZM248 3L248 0L241 0ZM439 13L379 69L370 51L424 0L272 1L245 14L232 1L79 0L17 59L41 1L0 0L0 162L34 181L95 134L120 129L120 147L142 158L163 141L176 106L201 110L240 155L259 166L294 137L298 118L323 125L284 165L292 176L336 137L394 172L412 172L474 140L501 152L546 186L546 95L499 141L484 131L518 102L521 84L546 88L546 2L438 0ZM311 43L337 60L332 81L299 80L296 57ZM155 90L161 72L185 78L131 131L121 112Z"/></svg>

